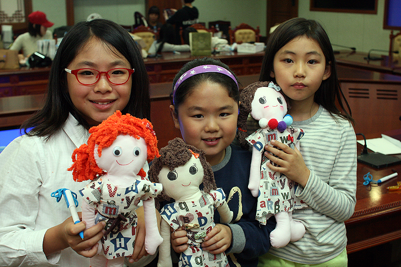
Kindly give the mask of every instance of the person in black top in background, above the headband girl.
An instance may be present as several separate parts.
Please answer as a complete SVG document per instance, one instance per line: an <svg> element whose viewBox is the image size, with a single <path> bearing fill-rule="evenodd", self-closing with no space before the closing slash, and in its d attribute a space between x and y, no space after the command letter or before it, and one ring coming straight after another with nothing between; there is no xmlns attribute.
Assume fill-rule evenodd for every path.
<svg viewBox="0 0 401 267"><path fill-rule="evenodd" d="M164 19L167 24L172 24L175 27L175 43L174 45L181 44L181 38L179 36L179 30L184 30L186 27L198 23L199 12L192 6L194 0L181 0L183 7L177 10L170 18L168 18L167 12L164 11ZM174 10L172 10L174 11Z"/></svg>

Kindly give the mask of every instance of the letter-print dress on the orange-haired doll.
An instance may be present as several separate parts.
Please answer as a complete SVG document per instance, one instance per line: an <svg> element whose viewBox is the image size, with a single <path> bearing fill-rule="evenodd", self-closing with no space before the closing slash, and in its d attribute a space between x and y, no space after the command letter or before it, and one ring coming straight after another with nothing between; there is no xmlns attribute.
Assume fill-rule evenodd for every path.
<svg viewBox="0 0 401 267"><path fill-rule="evenodd" d="M117 187L105 176L100 176L80 190L84 199L95 208L95 223L106 221L105 230L110 227L110 219L117 218L119 214L126 219L121 220L119 231L114 228L101 239L104 256L108 259L132 255L137 226L135 209L141 200L154 198L162 191L160 183L152 183L145 178L134 181L129 187Z"/></svg>

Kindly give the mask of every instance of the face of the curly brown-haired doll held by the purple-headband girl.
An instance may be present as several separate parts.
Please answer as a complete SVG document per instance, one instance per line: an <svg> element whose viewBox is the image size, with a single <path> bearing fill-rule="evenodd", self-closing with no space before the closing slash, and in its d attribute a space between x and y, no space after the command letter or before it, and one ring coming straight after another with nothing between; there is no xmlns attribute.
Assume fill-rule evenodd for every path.
<svg viewBox="0 0 401 267"><path fill-rule="evenodd" d="M194 191L199 190L204 178L204 168L200 160L192 155L185 165L172 171L163 166L158 177L166 195L177 200L185 195L191 196Z"/></svg>

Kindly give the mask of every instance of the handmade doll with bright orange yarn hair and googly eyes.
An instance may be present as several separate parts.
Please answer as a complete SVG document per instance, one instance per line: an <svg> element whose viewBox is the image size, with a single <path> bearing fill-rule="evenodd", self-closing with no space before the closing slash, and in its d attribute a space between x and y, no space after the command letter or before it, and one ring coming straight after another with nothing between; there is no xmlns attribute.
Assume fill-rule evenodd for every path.
<svg viewBox="0 0 401 267"><path fill-rule="evenodd" d="M147 159L158 156L152 125L116 111L98 126L89 129L88 144L74 150L75 181L92 180L80 190L82 219L89 228L106 222L98 254L91 266L123 266L124 257L133 253L137 215L142 200L146 227L145 249L154 254L162 242L156 219L154 197L162 191L159 183L145 179L142 169Z"/></svg>

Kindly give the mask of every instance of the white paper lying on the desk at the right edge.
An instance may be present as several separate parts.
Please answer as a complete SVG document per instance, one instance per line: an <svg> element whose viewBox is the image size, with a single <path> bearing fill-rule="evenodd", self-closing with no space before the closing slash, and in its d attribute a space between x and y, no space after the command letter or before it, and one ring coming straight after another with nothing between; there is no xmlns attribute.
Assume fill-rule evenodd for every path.
<svg viewBox="0 0 401 267"><path fill-rule="evenodd" d="M363 140L357 140L364 145ZM382 134L381 138L373 138L366 140L367 148L373 152L379 152L384 155L401 154L401 142L397 139Z"/></svg>

